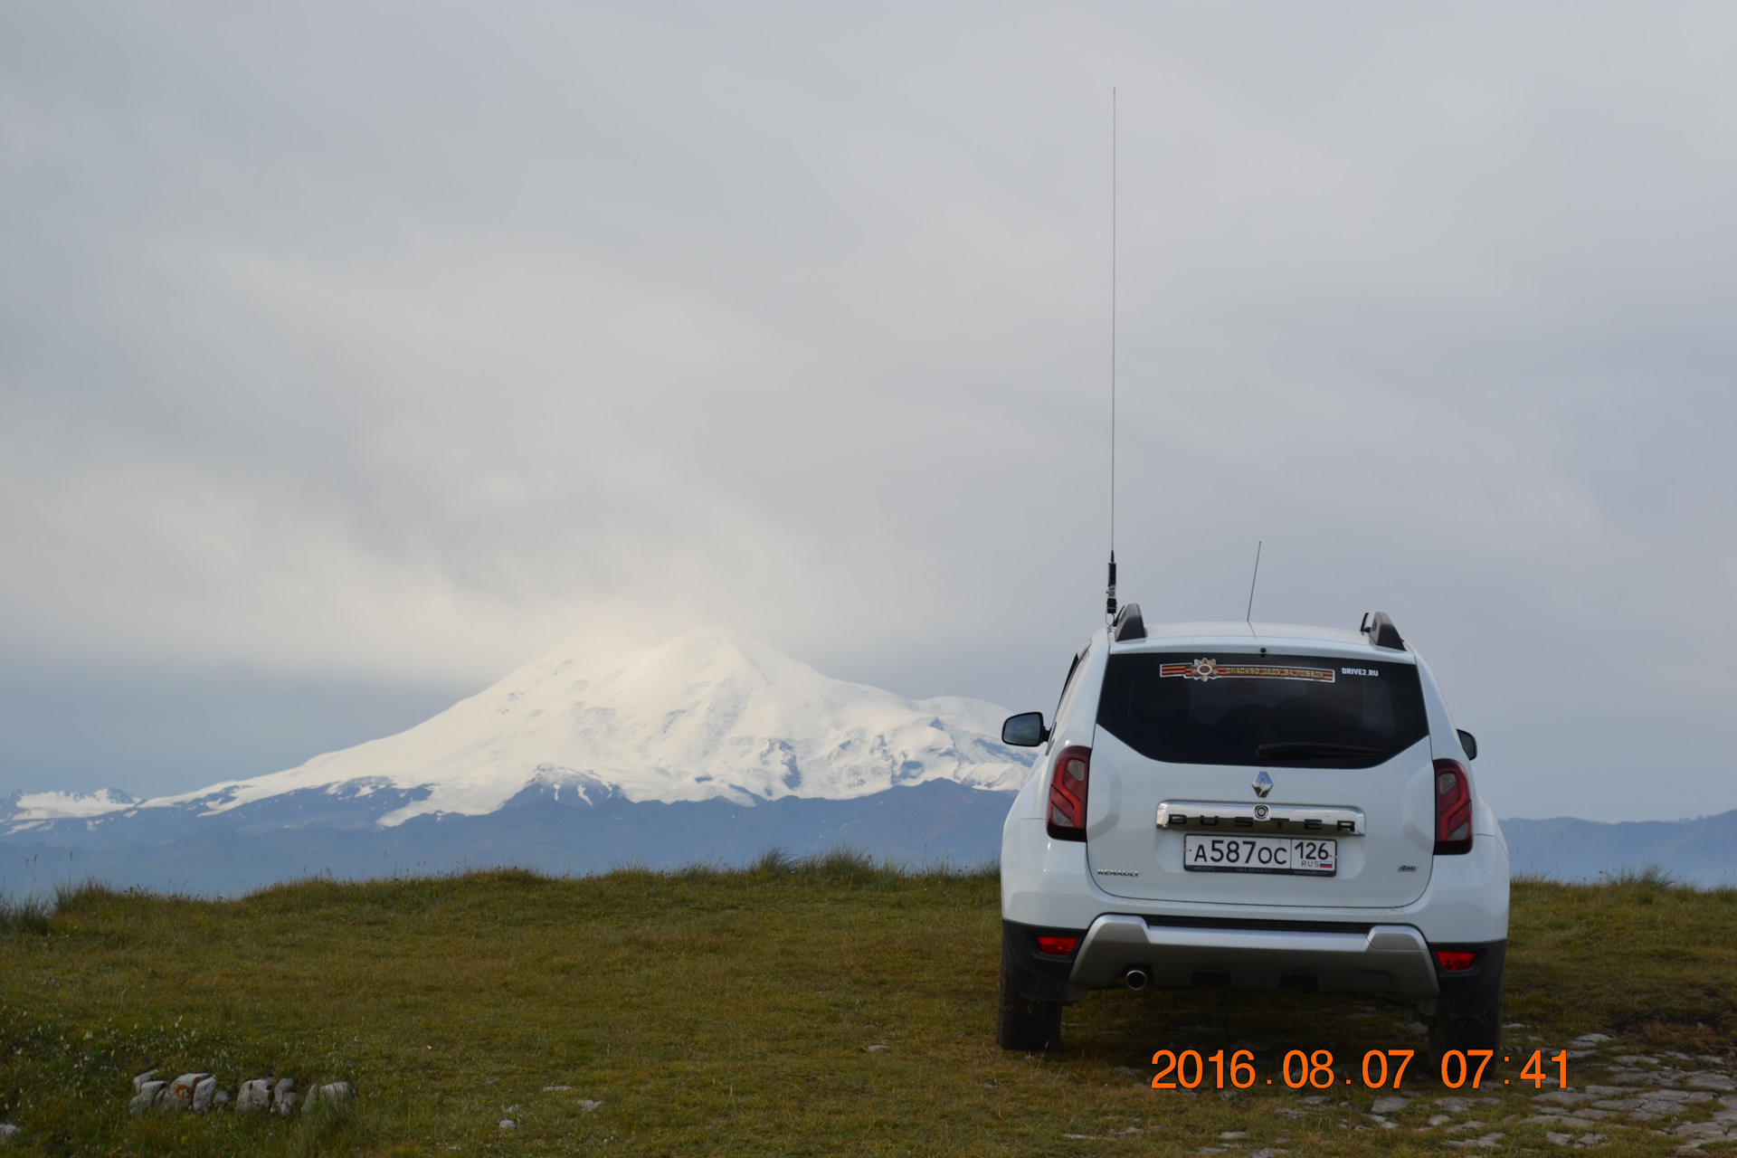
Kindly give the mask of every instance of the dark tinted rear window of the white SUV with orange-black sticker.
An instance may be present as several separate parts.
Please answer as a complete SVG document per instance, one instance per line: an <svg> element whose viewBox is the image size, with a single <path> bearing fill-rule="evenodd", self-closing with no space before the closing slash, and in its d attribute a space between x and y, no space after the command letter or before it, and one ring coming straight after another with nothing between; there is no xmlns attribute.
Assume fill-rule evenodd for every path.
<svg viewBox="0 0 1737 1158"><path fill-rule="evenodd" d="M1098 726L1167 764L1372 767L1430 734L1410 663L1310 655L1112 655Z"/></svg>

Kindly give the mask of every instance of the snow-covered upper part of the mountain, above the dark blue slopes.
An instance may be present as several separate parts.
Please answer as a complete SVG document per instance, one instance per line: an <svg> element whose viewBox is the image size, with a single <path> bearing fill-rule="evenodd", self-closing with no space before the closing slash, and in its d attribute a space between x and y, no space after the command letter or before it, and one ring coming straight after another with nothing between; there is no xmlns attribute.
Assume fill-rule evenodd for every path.
<svg viewBox="0 0 1737 1158"><path fill-rule="evenodd" d="M903 700L829 679L723 632L608 653L575 642L410 731L283 773L151 800L14 795L0 802L0 837L90 840L102 828L139 832L139 821L167 835L215 818L238 832L396 828L492 814L526 792L736 806L853 800L928 781L1013 792L1032 753L1001 743L1002 717L980 700Z"/></svg>

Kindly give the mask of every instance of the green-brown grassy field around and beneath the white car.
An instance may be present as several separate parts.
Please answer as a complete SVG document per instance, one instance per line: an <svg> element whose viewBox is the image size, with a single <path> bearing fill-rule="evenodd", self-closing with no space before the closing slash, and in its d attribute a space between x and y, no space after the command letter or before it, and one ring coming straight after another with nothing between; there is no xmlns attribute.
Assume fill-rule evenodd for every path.
<svg viewBox="0 0 1737 1158"><path fill-rule="evenodd" d="M1443 1089L1419 1057L1410 1099L1379 1115L1391 1092L1364 1089L1358 1061L1421 1054L1405 1005L1096 993L1070 1007L1065 1049L1006 1054L992 1036L997 953L994 873L905 875L851 856L302 882L238 901L85 887L52 917L0 911L0 1122L21 1127L3 1153L1270 1158L1584 1139L1669 1155L1694 1141L1683 1132L1723 1130L1695 1123L1730 1097L1716 1089L1737 1049L1730 891L1516 884L1513 1063L1473 1092ZM1593 1094L1607 1108L1582 1102L1591 1116L1563 1125L1555 1083L1520 1083L1520 1063L1593 1031L1614 1040L1577 1050L1569 1085L1608 1083ZM1199 1090L1153 1090L1159 1049L1251 1049L1256 1085L1221 1094L1209 1068ZM1289 1049L1332 1050L1332 1089L1287 1089ZM330 1116L132 1118L129 1080L153 1068L210 1069L231 1090L264 1075L347 1080L358 1097ZM1631 1097L1652 1089L1676 1101Z"/></svg>

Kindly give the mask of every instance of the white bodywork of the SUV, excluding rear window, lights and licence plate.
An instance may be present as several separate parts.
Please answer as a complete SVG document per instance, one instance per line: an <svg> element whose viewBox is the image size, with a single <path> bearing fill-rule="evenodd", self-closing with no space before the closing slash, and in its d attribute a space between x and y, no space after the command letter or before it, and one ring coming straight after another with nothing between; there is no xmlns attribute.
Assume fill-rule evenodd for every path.
<svg viewBox="0 0 1737 1158"><path fill-rule="evenodd" d="M1016 797L1002 828L1004 1002L1009 984L1027 998L1047 1002L1073 1002L1094 988L1124 983L1133 988L1230 984L1383 990L1414 1000L1426 1017L1473 1012L1487 997L1468 991L1470 974L1457 977L1445 970L1447 958L1436 955L1443 946L1473 953L1482 964L1468 967L1470 972L1485 969L1483 984L1494 981L1499 1002L1508 939L1508 845L1494 813L1476 795L1475 776L1466 776L1470 849L1436 854L1440 847L1457 847L1436 842L1442 835L1436 786L1447 783L1440 773L1470 771L1475 741L1454 727L1423 658L1403 644L1384 615L1377 618L1388 635L1372 635L1367 627L1346 632L1275 623L1148 627L1139 622L1138 608L1124 608L1122 618L1091 637L1075 656L1056 720L1040 747L1037 773ZM1377 646L1374 639L1398 646ZM1428 734L1395 755L1367 757L1381 762L1365 767L1150 759L1100 720L1112 656L1150 653L1162 653L1166 660L1186 656L1188 661L1244 665L1233 668L1242 672L1280 670L1252 667L1268 655L1320 658L1325 667L1298 668L1313 672L1317 682L1336 677L1346 682L1383 668L1390 677L1409 681L1409 674L1395 668L1410 665L1417 672ZM1186 675L1174 670L1176 663L1160 663L1155 656L1124 661L1117 670L1136 670L1133 663L1145 663L1141 672L1159 665L1166 677ZM1164 691L1179 688L1181 681L1166 684ZM1346 688L1322 694L1353 693ZM1386 696L1388 688L1381 694ZM1416 714L1409 719L1416 720ZM1067 748L1089 750L1084 839L1072 830L1060 830L1070 839L1058 839L1053 826L1051 783L1058 755ZM1351 818L1337 821L1344 832L1336 837L1337 863L1331 875L1183 868L1190 832L1200 833L1186 844L1199 861L1212 844L1212 830L1199 825L1252 825L1249 818L1256 807L1261 825L1273 823L1268 816L1280 826L1287 818L1292 825L1303 823L1296 818L1304 814ZM1270 828L1256 835L1266 840L1240 840L1251 849L1249 856L1258 844L1285 844ZM1221 845L1214 845L1214 852L1219 851ZM1079 943L1067 955L1027 951L1032 938L1044 931Z"/></svg>

